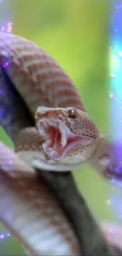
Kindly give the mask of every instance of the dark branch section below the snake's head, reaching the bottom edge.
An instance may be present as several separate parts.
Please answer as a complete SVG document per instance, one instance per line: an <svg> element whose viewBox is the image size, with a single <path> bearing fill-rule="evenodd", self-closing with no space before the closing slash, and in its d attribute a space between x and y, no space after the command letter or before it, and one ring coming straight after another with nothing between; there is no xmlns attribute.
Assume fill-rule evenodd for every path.
<svg viewBox="0 0 122 256"><path fill-rule="evenodd" d="M87 206L87 202L79 193L72 173L54 173L41 170L37 170L37 172L54 191L61 207L65 210L68 221L76 232L82 254L84 256L120 255L116 248L107 243Z"/></svg>

